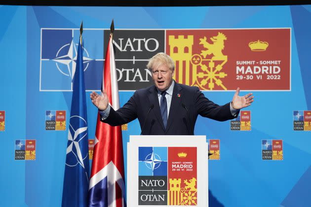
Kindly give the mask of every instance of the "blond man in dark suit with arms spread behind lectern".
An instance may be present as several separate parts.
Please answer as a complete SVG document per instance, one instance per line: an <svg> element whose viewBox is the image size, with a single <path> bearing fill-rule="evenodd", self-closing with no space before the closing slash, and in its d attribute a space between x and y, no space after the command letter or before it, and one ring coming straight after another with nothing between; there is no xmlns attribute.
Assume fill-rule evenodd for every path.
<svg viewBox="0 0 311 207"><path fill-rule="evenodd" d="M239 109L254 100L252 93L238 96L232 102L217 105L209 101L197 87L179 84L173 80L174 61L165 53L158 53L149 60L155 85L137 90L130 100L115 111L106 92L99 96L92 92L92 103L99 109L101 121L112 126L122 125L138 118L142 135L194 135L198 115L217 121L236 118Z"/></svg>

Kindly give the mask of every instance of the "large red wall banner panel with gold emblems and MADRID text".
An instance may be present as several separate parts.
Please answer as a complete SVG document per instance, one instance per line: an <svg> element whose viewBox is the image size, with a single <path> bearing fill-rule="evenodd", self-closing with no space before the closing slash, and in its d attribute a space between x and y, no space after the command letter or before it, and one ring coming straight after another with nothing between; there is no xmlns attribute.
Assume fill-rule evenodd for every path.
<svg viewBox="0 0 311 207"><path fill-rule="evenodd" d="M174 79L200 90L290 90L287 29L166 30Z"/></svg>

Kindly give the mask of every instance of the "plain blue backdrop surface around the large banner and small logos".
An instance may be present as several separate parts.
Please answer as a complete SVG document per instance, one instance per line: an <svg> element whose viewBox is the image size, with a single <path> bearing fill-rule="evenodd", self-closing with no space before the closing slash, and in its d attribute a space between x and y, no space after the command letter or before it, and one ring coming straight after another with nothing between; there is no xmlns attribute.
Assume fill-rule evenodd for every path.
<svg viewBox="0 0 311 207"><path fill-rule="evenodd" d="M293 130L293 111L311 110L310 5L0 5L0 110L5 111L5 130L0 131L0 206L61 205L72 92L70 85L66 86L61 78L45 73L46 80L42 79L46 72L41 70L42 64L49 63L42 60L44 35L41 29L78 29L82 20L85 29L109 29L113 18L116 29L291 28L291 90L254 93L255 102L247 109L251 111L251 131L231 131L229 121L199 117L195 135L220 139L220 160L209 161L211 206L311 206L311 133ZM72 33L74 39L78 39L76 32ZM108 39L92 42L93 35L85 33L83 38L89 48L98 45L99 49L91 51L92 58L102 65L104 41ZM47 53L44 55L48 56ZM91 77L85 72L85 78ZM49 85L56 87L55 90L42 90ZM58 86L64 90L57 91ZM97 110L88 94L88 137L94 138ZM133 91L119 94L120 105L123 105ZM233 92L204 92L204 95L218 104L225 104L231 101ZM66 110L65 131L45 130L47 110ZM128 130L122 134L126 155L129 135L140 134L138 121L129 123ZM36 160L15 160L15 142L25 139L36 140ZM262 159L263 139L283 140L283 160Z"/></svg>

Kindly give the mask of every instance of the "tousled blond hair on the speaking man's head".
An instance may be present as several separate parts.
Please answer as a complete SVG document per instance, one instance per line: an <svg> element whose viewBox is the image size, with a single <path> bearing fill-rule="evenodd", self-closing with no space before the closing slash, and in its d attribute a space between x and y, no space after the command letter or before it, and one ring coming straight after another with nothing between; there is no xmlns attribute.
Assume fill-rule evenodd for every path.
<svg viewBox="0 0 311 207"><path fill-rule="evenodd" d="M173 59L163 52L159 52L154 57L150 58L147 64L147 68L150 70L157 69L163 64L165 64L170 70L174 71L175 64Z"/></svg>

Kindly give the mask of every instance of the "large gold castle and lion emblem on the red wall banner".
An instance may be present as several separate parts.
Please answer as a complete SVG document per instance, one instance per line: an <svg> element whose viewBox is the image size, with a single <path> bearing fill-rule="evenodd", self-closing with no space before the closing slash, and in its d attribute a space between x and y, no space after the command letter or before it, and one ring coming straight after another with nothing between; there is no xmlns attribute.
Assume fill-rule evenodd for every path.
<svg viewBox="0 0 311 207"><path fill-rule="evenodd" d="M227 87L222 79L227 76L223 67L228 61L228 56L223 54L226 35L218 33L217 36L200 38L198 44L203 45L205 50L200 54L193 54L194 35L169 35L170 56L175 61L176 72L174 79L179 83L197 86L203 90L214 90L215 84L224 90ZM185 72L183 72L185 71ZM176 74L178 73L178 77ZM184 77L184 74L186 77Z"/></svg>

